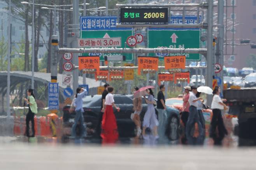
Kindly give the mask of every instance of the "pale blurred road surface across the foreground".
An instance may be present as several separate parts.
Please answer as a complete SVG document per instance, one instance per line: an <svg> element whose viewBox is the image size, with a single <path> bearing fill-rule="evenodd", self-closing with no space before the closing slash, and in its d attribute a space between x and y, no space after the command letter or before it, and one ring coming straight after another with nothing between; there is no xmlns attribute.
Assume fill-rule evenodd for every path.
<svg viewBox="0 0 256 170"><path fill-rule="evenodd" d="M0 170L255 170L256 148L1 144Z"/></svg>

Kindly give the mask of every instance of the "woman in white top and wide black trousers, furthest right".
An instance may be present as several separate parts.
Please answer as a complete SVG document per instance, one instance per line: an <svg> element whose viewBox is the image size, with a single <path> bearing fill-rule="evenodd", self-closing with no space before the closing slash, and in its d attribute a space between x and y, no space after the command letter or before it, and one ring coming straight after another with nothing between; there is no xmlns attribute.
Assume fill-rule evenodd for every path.
<svg viewBox="0 0 256 170"><path fill-rule="evenodd" d="M227 106L223 103L226 99L222 99L219 97L221 89L219 87L215 87L212 94L212 121L210 123L210 137L214 140L214 145L221 145L222 140L225 135L228 134L228 131L225 128L221 110L226 110Z"/></svg>

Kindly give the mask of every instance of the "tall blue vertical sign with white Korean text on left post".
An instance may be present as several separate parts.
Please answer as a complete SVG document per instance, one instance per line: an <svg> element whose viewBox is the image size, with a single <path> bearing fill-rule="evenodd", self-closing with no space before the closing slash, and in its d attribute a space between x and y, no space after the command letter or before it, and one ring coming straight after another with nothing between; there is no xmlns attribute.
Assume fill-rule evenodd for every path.
<svg viewBox="0 0 256 170"><path fill-rule="evenodd" d="M59 84L49 83L48 85L48 107L50 110L59 109Z"/></svg>

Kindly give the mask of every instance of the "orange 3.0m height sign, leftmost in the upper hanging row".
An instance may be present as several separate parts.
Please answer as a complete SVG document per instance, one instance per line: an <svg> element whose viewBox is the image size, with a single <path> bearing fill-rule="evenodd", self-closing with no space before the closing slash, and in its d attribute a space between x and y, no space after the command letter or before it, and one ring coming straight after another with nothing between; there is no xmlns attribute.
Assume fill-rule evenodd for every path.
<svg viewBox="0 0 256 170"><path fill-rule="evenodd" d="M97 74L100 74L100 57L99 56L79 56L79 70L96 69Z"/></svg>

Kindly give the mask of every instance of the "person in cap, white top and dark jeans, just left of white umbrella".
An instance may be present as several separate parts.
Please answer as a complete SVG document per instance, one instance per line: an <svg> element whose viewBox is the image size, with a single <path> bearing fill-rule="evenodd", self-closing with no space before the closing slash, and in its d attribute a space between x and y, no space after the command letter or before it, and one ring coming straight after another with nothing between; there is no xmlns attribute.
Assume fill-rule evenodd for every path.
<svg viewBox="0 0 256 170"><path fill-rule="evenodd" d="M188 144L196 145L200 142L200 134L202 133L202 125L199 121L199 115L197 111L197 101L202 100L201 97L197 98L197 88L192 86L192 92L189 92L189 116L186 125L186 137Z"/></svg>

